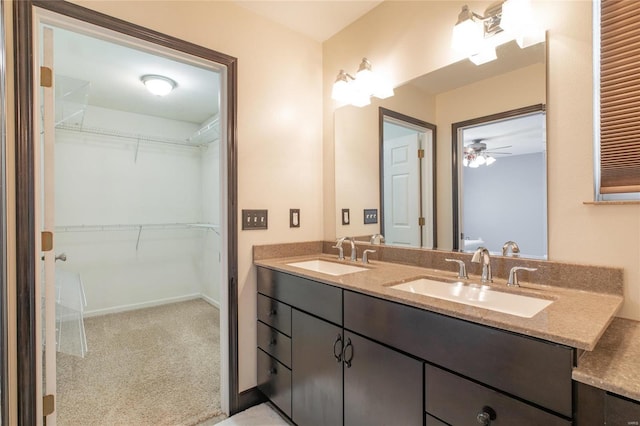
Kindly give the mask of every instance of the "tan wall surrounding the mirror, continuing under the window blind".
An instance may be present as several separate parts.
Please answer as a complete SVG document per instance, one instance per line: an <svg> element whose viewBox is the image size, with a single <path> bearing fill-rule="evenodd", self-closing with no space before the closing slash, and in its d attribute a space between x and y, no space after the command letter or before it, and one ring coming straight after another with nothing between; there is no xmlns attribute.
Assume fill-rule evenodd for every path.
<svg viewBox="0 0 640 426"><path fill-rule="evenodd" d="M337 71L366 56L398 86L455 62L451 29L463 4L476 12L488 5L388 1L323 44L325 238L335 236L330 90ZM640 205L584 204L593 200L592 3L539 0L534 8L548 30L549 257L624 268L619 315L640 320Z"/></svg>

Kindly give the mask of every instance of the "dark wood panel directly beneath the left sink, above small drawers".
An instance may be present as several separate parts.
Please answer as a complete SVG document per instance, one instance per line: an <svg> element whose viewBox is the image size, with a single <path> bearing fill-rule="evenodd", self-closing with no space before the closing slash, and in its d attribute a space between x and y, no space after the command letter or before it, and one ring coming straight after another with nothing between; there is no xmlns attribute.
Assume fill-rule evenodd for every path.
<svg viewBox="0 0 640 426"><path fill-rule="evenodd" d="M257 273L259 293L342 325L342 289L262 267Z"/></svg>

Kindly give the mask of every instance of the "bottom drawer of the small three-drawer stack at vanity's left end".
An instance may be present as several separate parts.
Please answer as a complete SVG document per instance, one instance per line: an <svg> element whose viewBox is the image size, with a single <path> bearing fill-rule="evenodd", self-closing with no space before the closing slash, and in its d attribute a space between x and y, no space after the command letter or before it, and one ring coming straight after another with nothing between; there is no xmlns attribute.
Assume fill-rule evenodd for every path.
<svg viewBox="0 0 640 426"><path fill-rule="evenodd" d="M258 349L258 389L291 417L291 370Z"/></svg>

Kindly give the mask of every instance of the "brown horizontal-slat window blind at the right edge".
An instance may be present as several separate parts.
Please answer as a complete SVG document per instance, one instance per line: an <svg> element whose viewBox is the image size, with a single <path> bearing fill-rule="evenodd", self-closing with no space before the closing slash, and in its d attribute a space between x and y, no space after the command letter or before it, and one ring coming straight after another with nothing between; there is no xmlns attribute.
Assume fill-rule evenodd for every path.
<svg viewBox="0 0 640 426"><path fill-rule="evenodd" d="M640 192L640 13L601 0L600 193Z"/></svg>

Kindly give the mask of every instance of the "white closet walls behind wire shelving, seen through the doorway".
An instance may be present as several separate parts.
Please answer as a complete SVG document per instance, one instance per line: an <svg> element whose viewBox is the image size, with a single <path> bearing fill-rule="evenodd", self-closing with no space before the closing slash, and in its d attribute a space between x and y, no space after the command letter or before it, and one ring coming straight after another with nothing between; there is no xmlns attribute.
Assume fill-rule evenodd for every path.
<svg viewBox="0 0 640 426"><path fill-rule="evenodd" d="M184 225L218 223L209 188L217 191L219 179L204 183L219 173L208 163L215 150L148 140L186 140L198 128L88 107L84 131L56 131L55 248L68 258L57 267L81 274L88 315L219 299L218 235Z"/></svg>

